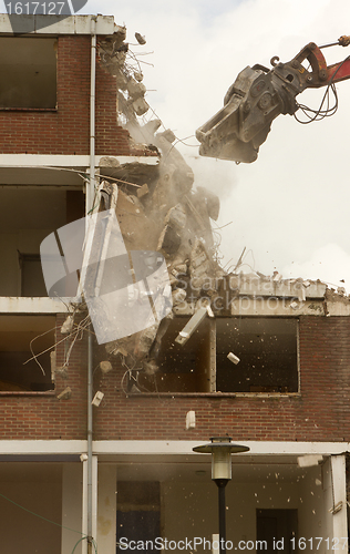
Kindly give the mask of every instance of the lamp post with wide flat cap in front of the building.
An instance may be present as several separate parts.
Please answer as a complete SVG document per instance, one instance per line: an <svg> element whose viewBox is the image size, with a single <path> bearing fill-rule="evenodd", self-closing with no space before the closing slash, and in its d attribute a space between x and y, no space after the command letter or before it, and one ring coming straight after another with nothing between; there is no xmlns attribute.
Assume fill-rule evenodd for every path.
<svg viewBox="0 0 350 554"><path fill-rule="evenodd" d="M213 437L209 444L195 447L194 452L212 454L212 479L218 488L219 551L226 554L226 501L225 486L231 479L230 454L247 452L249 447L234 444L230 437Z"/></svg>

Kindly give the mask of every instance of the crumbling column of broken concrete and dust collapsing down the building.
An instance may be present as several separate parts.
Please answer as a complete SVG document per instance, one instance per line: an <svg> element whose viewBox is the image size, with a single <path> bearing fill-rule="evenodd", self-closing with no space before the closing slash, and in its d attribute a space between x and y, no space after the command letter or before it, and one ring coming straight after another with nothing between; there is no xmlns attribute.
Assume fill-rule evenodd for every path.
<svg viewBox="0 0 350 554"><path fill-rule="evenodd" d="M138 179L138 188L120 186L115 213L128 250L156 250L164 256L173 302L178 306L188 294L192 300L199 298L208 277L214 281L223 276L216 261L210 225L210 219L218 217L219 201L204 187L194 189L193 171L176 150L174 133L171 130L159 132L159 120L146 124L141 121L140 116L150 106L140 66L127 63L131 54L125 43L125 29L120 28L99 47L101 64L117 82L120 121L130 132L133 151L157 155L159 161L157 174L145 183ZM124 181L132 182L132 173L125 167ZM171 319L172 315L135 336L109 343L107 352L120 355L122 348L127 352L131 367L141 363L146 373L154 372L159 342Z"/></svg>

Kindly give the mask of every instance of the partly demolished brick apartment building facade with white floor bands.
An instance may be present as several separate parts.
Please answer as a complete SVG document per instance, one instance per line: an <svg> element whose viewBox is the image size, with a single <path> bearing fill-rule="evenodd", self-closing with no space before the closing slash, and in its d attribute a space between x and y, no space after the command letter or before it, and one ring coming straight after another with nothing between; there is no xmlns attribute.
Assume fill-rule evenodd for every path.
<svg viewBox="0 0 350 554"><path fill-rule="evenodd" d="M7 40L47 41L54 51L48 64L56 66L50 106L25 105L32 100L21 92L11 105L13 95L6 95L4 85L0 94L4 552L86 552L87 484L100 554L115 552L115 537L124 544L136 537L140 550L155 537L177 545L185 537L210 540L216 533L210 461L192 449L226 435L250 448L233 456L227 486L233 545L241 541L256 552L256 541L277 535L288 542L287 552L298 550L300 537L308 545L321 537L320 552L338 538L342 547L348 536L350 302L319 281L234 276L227 297L223 286L230 281L224 277L212 297L214 317L184 347L174 338L195 308L191 302L177 307L155 375L130 370L123 357L109 357L112 368L103 372L100 362L107 355L94 341L93 391L104 397L93 407L89 482L89 329L62 336L66 306L48 298L38 267L43 238L91 209L83 194L89 179L80 176L91 172L91 19L69 18L21 38L12 35L7 17L0 21L1 48ZM97 41L116 32L113 18L99 16L95 23ZM3 59L3 71L12 75ZM37 84L31 85L35 91ZM117 164L126 164L126 172L130 164L132 179L135 163L146 171L156 157L131 155L116 103L115 78L97 58L94 170L114 175ZM114 156L113 171L101 163L105 156ZM225 309L216 301L224 296ZM42 351L40 369L32 358ZM240 359L237 366L227 361L230 351ZM31 365L23 366L28 359ZM195 423L186 427L188 412L195 413ZM197 550L204 550L203 543Z"/></svg>

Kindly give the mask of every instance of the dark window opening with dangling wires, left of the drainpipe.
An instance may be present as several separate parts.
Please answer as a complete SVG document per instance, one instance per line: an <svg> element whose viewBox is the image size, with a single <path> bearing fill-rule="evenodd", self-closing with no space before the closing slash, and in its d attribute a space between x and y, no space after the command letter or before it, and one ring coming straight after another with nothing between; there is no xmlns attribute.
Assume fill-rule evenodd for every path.
<svg viewBox="0 0 350 554"><path fill-rule="evenodd" d="M54 388L50 357L54 327L51 316L0 316L0 391Z"/></svg>

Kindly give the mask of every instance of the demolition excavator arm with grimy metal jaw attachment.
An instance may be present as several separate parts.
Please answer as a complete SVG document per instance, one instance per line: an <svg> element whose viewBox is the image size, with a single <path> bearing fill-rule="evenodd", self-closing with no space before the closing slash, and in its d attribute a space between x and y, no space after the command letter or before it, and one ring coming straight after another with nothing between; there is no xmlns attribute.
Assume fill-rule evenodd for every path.
<svg viewBox="0 0 350 554"><path fill-rule="evenodd" d="M310 42L287 63L274 57L270 70L259 64L244 69L228 89L224 107L196 131L199 154L236 163L255 162L272 121L279 114L294 115L300 107L298 94L328 86L337 98L333 85L350 78L350 57L327 65L321 52L336 44L349 45L350 37L322 47Z"/></svg>

